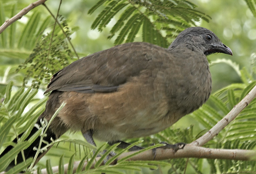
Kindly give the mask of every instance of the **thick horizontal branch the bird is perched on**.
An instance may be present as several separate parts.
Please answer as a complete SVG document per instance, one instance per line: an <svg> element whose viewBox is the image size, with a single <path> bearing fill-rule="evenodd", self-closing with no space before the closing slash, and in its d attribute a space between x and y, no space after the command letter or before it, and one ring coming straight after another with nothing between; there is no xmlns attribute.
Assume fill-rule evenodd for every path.
<svg viewBox="0 0 256 174"><path fill-rule="evenodd" d="M122 158L125 158L134 152L126 152L121 154L117 161ZM178 150L175 152L173 149L156 149L156 158L155 160L163 160L163 159L173 159L173 158L208 158L208 159L233 159L233 160L252 160L251 157L255 156L256 152L254 150L241 150L241 149L210 149L205 147L198 147L195 145L186 145L183 150ZM100 157L96 158L94 161L92 168L94 167L96 161L98 161ZM132 158L128 159L129 161L137 161L137 160L154 160L154 154L152 150L147 150L142 152ZM76 172L76 169L79 165L80 161L74 162L73 172ZM114 162L112 163L112 165ZM64 173L67 173L69 164L64 165ZM83 169L87 165L87 162L84 163ZM58 172L59 166L52 167L52 171ZM46 169L41 170L42 174L46 174ZM33 172L33 174L37 174L37 171Z"/></svg>

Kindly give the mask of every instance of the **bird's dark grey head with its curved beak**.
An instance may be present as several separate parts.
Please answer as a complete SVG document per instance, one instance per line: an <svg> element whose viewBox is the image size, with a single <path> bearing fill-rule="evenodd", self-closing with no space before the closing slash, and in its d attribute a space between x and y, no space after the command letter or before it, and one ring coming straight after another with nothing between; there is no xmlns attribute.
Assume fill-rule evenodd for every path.
<svg viewBox="0 0 256 174"><path fill-rule="evenodd" d="M179 45L186 44L188 48L197 48L206 56L213 53L232 55L229 47L210 30L203 27L190 27L182 31L168 49L172 50Z"/></svg>

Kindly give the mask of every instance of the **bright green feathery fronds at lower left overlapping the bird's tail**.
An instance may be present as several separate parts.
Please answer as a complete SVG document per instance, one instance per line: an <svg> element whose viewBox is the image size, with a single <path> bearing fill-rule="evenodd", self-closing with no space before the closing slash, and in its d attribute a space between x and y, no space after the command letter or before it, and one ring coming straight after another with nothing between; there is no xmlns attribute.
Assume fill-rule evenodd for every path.
<svg viewBox="0 0 256 174"><path fill-rule="evenodd" d="M25 132L17 145L10 150L7 154L2 156L0 159L0 171L6 169L9 163L15 159L15 156L20 150L26 149L35 140L32 137L28 141L24 139L28 136L33 128L33 125L39 115L43 112L43 108L40 108L46 101L46 98L37 100L34 107L31 107L27 112L24 112L25 108L30 104L34 103L33 97L37 94L37 91L32 91L31 88L25 89L20 88L13 96L11 96L12 83L9 83L6 87L6 92L1 95L2 102L0 103L0 148L2 146L9 145L13 136L17 137L22 132ZM39 136L39 134L37 134ZM13 144L12 144L13 145ZM32 159L27 159L26 164L21 163L17 165L9 173L18 173L26 169L32 163Z"/></svg>

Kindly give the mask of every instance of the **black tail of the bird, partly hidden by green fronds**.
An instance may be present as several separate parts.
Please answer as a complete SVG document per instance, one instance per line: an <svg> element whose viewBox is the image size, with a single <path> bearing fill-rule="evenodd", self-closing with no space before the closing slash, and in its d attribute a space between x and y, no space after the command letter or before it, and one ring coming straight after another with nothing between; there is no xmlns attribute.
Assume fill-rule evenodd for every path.
<svg viewBox="0 0 256 174"><path fill-rule="evenodd" d="M44 114L44 113L43 113ZM39 117L39 119L37 120L37 124L40 126L41 125L41 120L42 118L42 115ZM26 138L26 141L28 141L32 136L33 134L35 134L36 132L38 131L37 127L33 127L32 131L30 132L30 134L28 135L28 137ZM21 138L21 136L23 135L20 134L18 137ZM34 147L37 147L39 146L39 143L40 143L40 136L37 137L37 139L35 141L33 141L33 143L27 148L27 149L24 149L23 152L24 152L24 157L25 159L28 159L28 158L34 158L35 154L36 154L36 150L33 150ZM46 136L43 138L44 141L47 141L48 143L51 142L51 138L53 140L55 140L57 137L56 135L51 131L51 129L47 129L46 130ZM13 140L13 143L17 144L17 138L15 138ZM41 144L41 148L42 147L45 147L46 146L46 143L42 142ZM0 158L2 158L2 156L4 156L7 152L9 152L11 149L13 149L13 146L12 145L9 145L8 147L6 147L6 149L2 152L2 154L0 154ZM50 147L48 147L48 149L43 152L42 154L39 154L39 156L37 157L36 159L36 162L35 164L39 161L39 159L41 159L45 153L50 149ZM23 162L23 158L22 158L22 154L21 152L17 155L17 159L16 159L16 165ZM9 169L12 169L13 167L15 166L15 160L11 161L11 163L9 164L9 166L7 167L6 171L9 170Z"/></svg>

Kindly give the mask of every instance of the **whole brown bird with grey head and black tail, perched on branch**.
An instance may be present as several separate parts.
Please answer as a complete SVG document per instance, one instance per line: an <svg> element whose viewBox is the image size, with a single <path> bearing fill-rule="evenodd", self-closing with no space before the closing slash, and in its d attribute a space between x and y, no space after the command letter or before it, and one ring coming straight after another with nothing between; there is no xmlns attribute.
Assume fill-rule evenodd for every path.
<svg viewBox="0 0 256 174"><path fill-rule="evenodd" d="M208 100L211 73L206 56L213 53L232 55L209 29L189 27L168 48L126 43L71 63L52 76L45 91L50 95L37 123L49 121L61 103L65 106L44 140L51 142L71 130L81 131L92 145L97 139L125 146L125 139L171 127ZM36 131L34 127L30 136ZM24 149L25 158L35 155L33 147L38 144L39 138ZM12 148L8 146L1 156ZM22 161L19 154L17 163ZM9 167L14 165L12 161Z"/></svg>

